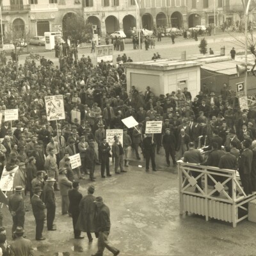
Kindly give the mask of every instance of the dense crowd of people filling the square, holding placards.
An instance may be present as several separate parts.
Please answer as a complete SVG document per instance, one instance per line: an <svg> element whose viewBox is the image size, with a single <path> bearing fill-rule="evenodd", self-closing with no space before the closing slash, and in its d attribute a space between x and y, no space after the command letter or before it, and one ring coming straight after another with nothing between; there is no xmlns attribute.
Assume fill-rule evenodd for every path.
<svg viewBox="0 0 256 256"><path fill-rule="evenodd" d="M77 211L70 209L76 201L70 199L70 191L77 194L74 190L79 188L78 180L85 179L86 175L90 182L95 182L97 164L100 165L102 179L111 177L109 157L115 162L113 171L116 175L127 172L125 167L129 166L131 158L141 160L141 155L146 162L145 171L149 171L150 160L152 170L157 171L155 152L160 154L162 147L166 165L170 166L171 156L175 166L189 147L214 151L217 143L218 149L224 146L227 152L231 147L236 157L240 157L240 163L245 161L244 152L250 150L252 171L245 168L241 179L245 190L251 184L250 175L255 173L256 166L256 112L252 109L241 111L230 86L223 84L220 95L216 97L203 84L194 99L188 88L155 95L154 88L151 90L149 86L145 92L139 92L132 86L127 92L121 63L115 67L101 61L93 66L90 57L84 55L80 60L71 57L68 61L68 58L70 56L60 58L60 67L38 66L35 61L26 61L24 65L12 60L1 63L0 111L3 121L0 134L3 140L0 143L0 166L1 172L5 166L6 172L14 176L15 193L10 197L9 209L13 218L13 237L21 237L17 241L24 239L21 235L24 233L26 211L24 196L28 191L36 220L36 240L44 240L44 208L47 210L47 229L56 230L53 224L56 212L54 191L60 191L61 213L72 214L74 236L81 238L80 231L87 231L76 227L80 217L74 213ZM44 97L48 95L63 95L65 120L47 121ZM5 121L5 109L18 109L19 120ZM80 112L81 118L72 118L72 111ZM122 119L129 116L133 116L138 125L127 129ZM152 134L145 134L147 121L152 120L163 122L162 133L154 134L154 138ZM115 136L110 146L106 140L106 129L123 129L123 142ZM243 141L243 147L240 141ZM72 169L69 157L76 154L80 155L82 164ZM92 191L93 186L89 189ZM251 191L248 188L246 193ZM88 232L99 232L99 252L95 255L102 255L105 246L118 255L119 251L108 242L108 207L104 206L102 198L93 198L90 202L103 207L104 216L107 216L104 217L104 228L88 229ZM78 209L79 204L80 200L76 207L73 206ZM95 210L95 216L99 216L99 209ZM94 224L97 225L97 221ZM88 239L92 240L89 234ZM24 243L30 244L28 241Z"/></svg>

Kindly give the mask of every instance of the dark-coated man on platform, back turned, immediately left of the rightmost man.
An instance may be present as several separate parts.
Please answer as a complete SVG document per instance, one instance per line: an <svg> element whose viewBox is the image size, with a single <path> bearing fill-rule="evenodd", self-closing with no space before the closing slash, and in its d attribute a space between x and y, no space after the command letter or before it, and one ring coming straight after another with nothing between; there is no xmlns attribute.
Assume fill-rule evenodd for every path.
<svg viewBox="0 0 256 256"><path fill-rule="evenodd" d="M237 170L237 158L230 154L230 146L225 147L226 154L220 157L219 168L220 169L230 169ZM232 198L232 182L231 180L227 182L228 195Z"/></svg>

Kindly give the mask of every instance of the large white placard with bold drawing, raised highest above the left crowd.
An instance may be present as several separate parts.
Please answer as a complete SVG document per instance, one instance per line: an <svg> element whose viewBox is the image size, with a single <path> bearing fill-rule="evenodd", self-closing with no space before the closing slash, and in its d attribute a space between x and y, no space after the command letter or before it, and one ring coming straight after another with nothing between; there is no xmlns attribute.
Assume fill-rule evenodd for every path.
<svg viewBox="0 0 256 256"><path fill-rule="evenodd" d="M62 95L45 96L45 108L47 120L65 119L64 102Z"/></svg>

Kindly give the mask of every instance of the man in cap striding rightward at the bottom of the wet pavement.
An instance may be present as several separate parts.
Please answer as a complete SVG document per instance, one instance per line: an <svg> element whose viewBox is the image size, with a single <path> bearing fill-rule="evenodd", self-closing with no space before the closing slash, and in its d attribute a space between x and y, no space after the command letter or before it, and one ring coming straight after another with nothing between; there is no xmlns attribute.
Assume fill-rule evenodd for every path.
<svg viewBox="0 0 256 256"><path fill-rule="evenodd" d="M120 253L120 250L116 249L109 241L108 236L110 232L110 216L109 208L104 204L101 196L98 196L95 199L95 204L97 205L97 219L96 219L96 228L99 232L98 239L98 251L92 256L101 256L103 255L104 249L107 248L114 256Z"/></svg>

